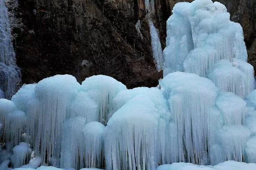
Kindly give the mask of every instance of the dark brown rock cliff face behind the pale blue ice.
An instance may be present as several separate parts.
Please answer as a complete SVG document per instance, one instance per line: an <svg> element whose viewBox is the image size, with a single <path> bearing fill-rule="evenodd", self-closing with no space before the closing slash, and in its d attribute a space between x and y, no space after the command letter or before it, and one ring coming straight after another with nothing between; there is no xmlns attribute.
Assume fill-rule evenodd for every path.
<svg viewBox="0 0 256 170"><path fill-rule="evenodd" d="M218 1L243 27L248 60L256 66L256 1ZM166 20L177 2L154 1L162 48ZM105 74L134 88L156 86L162 77L152 57L144 0L26 0L19 1L17 14L24 25L13 31L23 83L55 74L72 74L79 82Z"/></svg>

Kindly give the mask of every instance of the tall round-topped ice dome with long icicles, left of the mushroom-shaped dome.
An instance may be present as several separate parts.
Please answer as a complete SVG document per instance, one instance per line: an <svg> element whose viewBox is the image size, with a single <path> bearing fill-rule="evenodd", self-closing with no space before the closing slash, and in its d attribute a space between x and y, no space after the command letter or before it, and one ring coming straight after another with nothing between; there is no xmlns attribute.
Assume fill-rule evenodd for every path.
<svg viewBox="0 0 256 170"><path fill-rule="evenodd" d="M38 100L38 133L35 138L35 151L41 153L43 160L46 153L59 157L61 151L61 128L70 116L70 104L75 99L81 85L71 75L56 75L41 80L35 86ZM41 152L40 152L41 151Z"/></svg>

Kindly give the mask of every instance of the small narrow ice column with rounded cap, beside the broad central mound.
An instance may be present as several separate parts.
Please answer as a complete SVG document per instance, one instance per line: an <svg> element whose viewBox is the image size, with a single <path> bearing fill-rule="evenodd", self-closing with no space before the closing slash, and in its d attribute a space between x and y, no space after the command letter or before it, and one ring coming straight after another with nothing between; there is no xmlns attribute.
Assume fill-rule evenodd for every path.
<svg viewBox="0 0 256 170"><path fill-rule="evenodd" d="M105 126L100 122L90 122L84 126L84 167L102 167Z"/></svg>

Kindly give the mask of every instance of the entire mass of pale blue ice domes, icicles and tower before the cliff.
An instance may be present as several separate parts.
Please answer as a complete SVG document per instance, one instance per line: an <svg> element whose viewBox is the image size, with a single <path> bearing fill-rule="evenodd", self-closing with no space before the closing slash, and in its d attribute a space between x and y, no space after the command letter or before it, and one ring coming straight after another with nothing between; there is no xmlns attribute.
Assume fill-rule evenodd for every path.
<svg viewBox="0 0 256 170"><path fill-rule="evenodd" d="M103 75L81 85L70 75L23 85L12 100L0 99L1 141L27 142L61 168L255 163L254 71L241 26L211 0L178 3L167 24L158 87L127 89ZM20 162L16 156L13 167Z"/></svg>

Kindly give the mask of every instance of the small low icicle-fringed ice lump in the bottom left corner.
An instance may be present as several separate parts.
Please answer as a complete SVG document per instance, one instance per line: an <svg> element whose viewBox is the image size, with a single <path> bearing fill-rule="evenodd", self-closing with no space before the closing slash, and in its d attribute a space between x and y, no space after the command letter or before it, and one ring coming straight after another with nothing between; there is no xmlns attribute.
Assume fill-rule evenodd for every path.
<svg viewBox="0 0 256 170"><path fill-rule="evenodd" d="M11 163L12 167L21 167L29 161L32 149L29 144L20 142L12 149Z"/></svg>

